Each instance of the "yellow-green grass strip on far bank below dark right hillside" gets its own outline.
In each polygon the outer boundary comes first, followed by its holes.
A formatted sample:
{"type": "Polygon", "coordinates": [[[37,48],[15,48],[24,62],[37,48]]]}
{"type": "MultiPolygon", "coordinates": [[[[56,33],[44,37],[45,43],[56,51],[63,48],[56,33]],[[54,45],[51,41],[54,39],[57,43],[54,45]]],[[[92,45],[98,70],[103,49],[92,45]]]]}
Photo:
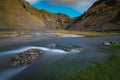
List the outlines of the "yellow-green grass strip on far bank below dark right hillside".
{"type": "Polygon", "coordinates": [[[113,36],[113,35],[120,35],[120,33],[114,32],[84,32],[84,31],[66,31],[66,30],[51,30],[48,33],[64,33],[64,34],[75,34],[75,35],[82,35],[88,37],[97,37],[97,36],[113,36]]]}

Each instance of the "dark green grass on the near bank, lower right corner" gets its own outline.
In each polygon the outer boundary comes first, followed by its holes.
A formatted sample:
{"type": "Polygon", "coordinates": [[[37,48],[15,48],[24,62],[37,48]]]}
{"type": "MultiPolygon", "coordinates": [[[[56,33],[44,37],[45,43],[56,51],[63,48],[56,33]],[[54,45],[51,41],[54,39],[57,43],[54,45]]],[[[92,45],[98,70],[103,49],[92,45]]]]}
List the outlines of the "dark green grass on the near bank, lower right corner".
{"type": "Polygon", "coordinates": [[[110,45],[109,61],[80,70],[59,80],[120,80],[120,44],[110,45]]]}

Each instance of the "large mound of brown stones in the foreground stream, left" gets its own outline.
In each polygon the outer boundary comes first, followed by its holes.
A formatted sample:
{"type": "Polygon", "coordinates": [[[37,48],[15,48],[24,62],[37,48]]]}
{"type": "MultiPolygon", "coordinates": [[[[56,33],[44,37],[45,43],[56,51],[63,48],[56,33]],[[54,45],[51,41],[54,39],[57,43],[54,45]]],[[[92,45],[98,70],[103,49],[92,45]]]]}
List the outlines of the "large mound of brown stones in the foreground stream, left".
{"type": "Polygon", "coordinates": [[[43,52],[39,49],[29,49],[11,58],[13,66],[22,66],[36,61],[43,52]]]}

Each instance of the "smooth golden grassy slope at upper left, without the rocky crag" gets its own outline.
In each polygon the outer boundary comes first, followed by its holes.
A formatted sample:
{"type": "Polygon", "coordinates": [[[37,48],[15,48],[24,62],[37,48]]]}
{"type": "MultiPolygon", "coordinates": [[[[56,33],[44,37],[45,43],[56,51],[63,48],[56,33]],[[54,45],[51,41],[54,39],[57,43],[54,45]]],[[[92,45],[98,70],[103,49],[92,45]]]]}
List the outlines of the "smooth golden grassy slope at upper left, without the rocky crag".
{"type": "Polygon", "coordinates": [[[35,24],[38,27],[45,26],[42,20],[26,11],[23,7],[25,2],[20,3],[20,1],[0,0],[0,28],[34,30],[35,24]]]}

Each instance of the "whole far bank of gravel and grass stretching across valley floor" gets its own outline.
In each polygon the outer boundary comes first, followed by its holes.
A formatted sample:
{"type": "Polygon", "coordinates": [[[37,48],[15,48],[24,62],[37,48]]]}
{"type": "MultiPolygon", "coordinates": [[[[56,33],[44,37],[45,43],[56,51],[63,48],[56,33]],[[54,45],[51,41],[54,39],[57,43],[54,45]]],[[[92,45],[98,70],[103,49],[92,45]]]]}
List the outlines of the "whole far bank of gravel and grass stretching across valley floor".
{"type": "MultiPolygon", "coordinates": [[[[100,36],[116,36],[120,33],[104,33],[104,32],[75,32],[75,31],[64,31],[64,30],[57,30],[57,31],[48,31],[48,32],[27,32],[27,33],[16,33],[16,32],[10,32],[11,34],[6,37],[0,38],[0,47],[7,46],[11,44],[17,44],[17,43],[25,43],[25,42],[31,42],[31,41],[37,41],[37,40],[45,40],[50,38],[62,38],[62,37],[100,37],[100,36]],[[16,36],[17,35],[17,36],[16,36]]],[[[3,35],[2,33],[1,35],[3,35]]],[[[8,34],[8,33],[7,33],[8,34]]]]}

